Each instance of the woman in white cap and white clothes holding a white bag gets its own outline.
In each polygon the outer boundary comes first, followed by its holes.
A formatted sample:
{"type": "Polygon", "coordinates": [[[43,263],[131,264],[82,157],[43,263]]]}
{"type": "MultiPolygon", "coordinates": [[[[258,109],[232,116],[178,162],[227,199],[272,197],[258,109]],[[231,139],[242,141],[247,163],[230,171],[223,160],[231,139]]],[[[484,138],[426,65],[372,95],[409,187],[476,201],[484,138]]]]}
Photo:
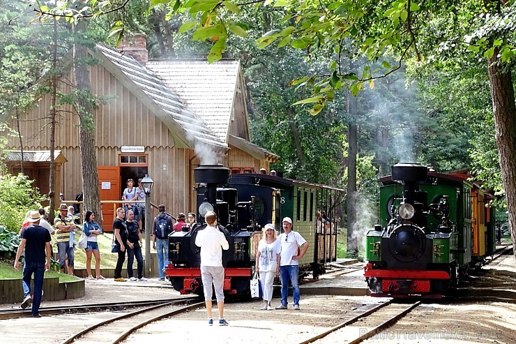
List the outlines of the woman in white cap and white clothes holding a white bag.
{"type": "Polygon", "coordinates": [[[272,223],[264,227],[264,234],[258,244],[256,253],[256,269],[260,271],[261,290],[264,293],[262,311],[271,311],[273,299],[274,276],[280,274],[281,244],[277,240],[278,234],[272,223]]]}

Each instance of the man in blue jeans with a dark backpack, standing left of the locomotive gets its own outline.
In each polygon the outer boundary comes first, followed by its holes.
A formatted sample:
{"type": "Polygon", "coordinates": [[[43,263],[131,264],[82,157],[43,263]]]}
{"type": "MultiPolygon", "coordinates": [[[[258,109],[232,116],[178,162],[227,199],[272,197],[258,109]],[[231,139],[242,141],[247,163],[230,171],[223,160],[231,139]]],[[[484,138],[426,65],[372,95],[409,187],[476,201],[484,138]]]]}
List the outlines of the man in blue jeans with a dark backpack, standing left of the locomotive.
{"type": "Polygon", "coordinates": [[[160,214],[154,218],[152,230],[153,248],[158,252],[160,281],[165,281],[165,267],[169,264],[169,234],[172,232],[172,217],[165,212],[163,204],[158,205],[160,214]]]}

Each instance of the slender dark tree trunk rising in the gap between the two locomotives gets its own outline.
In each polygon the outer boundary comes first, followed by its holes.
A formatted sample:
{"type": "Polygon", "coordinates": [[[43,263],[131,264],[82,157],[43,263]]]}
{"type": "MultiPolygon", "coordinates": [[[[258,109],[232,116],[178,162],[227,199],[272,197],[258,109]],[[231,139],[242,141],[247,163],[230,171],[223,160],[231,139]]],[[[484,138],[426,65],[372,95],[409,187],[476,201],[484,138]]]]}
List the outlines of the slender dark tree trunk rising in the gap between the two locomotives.
{"type": "MultiPolygon", "coordinates": [[[[348,93],[347,112],[352,120],[356,118],[356,97],[348,93]]],[[[347,158],[347,256],[358,256],[358,243],[356,239],[356,202],[358,193],[356,190],[356,155],[358,153],[356,124],[348,124],[348,158],[347,158]]]]}

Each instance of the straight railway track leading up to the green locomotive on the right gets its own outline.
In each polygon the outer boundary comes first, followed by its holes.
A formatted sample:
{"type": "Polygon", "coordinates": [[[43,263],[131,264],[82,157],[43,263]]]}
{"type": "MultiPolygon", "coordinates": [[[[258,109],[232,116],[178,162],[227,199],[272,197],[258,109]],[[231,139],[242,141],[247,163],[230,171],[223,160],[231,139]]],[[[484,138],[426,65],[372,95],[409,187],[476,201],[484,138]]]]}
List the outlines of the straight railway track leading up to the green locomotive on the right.
{"type": "Polygon", "coordinates": [[[420,301],[413,304],[394,304],[393,299],[390,299],[373,308],[370,306],[356,308],[349,320],[299,344],[343,343],[344,338],[347,344],[361,343],[395,324],[419,304],[420,301]]]}

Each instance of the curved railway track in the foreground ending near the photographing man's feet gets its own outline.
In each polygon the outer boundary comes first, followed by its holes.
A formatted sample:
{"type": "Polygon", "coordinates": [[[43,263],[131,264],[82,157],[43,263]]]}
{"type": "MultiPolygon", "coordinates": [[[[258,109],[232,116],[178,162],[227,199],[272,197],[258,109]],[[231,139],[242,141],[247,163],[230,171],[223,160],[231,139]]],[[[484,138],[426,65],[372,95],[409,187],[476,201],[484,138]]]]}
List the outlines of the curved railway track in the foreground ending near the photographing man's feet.
{"type": "Polygon", "coordinates": [[[68,337],[61,344],[69,343],[121,343],[138,329],[155,322],[162,320],[165,317],[181,314],[195,308],[204,306],[203,302],[196,302],[186,306],[179,306],[184,302],[192,301],[192,298],[169,301],[164,304],[150,306],[130,313],[112,317],[93,324],[72,336],[68,337]]]}

